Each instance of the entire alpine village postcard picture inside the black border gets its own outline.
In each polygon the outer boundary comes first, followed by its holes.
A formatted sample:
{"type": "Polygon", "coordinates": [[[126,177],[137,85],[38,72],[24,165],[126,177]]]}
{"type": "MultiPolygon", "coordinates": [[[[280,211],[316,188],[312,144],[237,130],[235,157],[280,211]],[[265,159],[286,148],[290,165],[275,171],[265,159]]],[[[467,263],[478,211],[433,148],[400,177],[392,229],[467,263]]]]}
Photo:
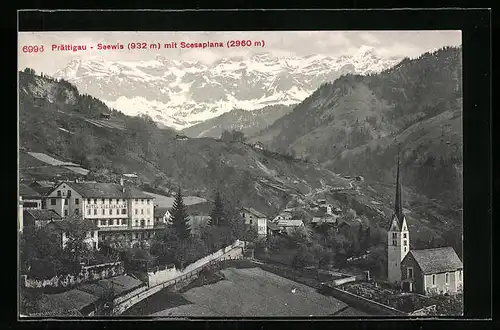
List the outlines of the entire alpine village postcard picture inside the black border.
{"type": "Polygon", "coordinates": [[[464,314],[460,30],[18,32],[19,316],[464,314]]]}

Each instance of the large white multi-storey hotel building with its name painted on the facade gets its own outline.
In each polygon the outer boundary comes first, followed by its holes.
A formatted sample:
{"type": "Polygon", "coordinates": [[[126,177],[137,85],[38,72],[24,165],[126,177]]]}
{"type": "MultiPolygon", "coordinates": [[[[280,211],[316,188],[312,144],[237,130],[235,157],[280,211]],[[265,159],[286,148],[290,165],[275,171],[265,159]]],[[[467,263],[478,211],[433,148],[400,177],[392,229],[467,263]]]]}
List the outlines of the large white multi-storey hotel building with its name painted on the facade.
{"type": "Polygon", "coordinates": [[[154,197],[123,184],[98,182],[62,182],[47,196],[47,208],[66,217],[82,215],[94,223],[99,239],[111,236],[135,242],[150,239],[154,227],[154,197]]]}

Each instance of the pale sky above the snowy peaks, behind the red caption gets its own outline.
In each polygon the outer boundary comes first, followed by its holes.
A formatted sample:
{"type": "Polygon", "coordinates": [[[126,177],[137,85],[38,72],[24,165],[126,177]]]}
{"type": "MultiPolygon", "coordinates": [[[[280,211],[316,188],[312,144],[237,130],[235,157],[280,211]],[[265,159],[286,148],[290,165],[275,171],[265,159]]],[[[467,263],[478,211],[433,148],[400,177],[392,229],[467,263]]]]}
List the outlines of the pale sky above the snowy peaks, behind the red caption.
{"type": "Polygon", "coordinates": [[[224,57],[251,56],[270,52],[276,56],[351,55],[363,46],[373,47],[381,57],[417,57],[443,46],[462,43],[461,31],[239,31],[239,32],[20,32],[18,67],[53,74],[75,57],[102,57],[105,60],[146,61],[161,55],[176,60],[197,60],[210,64],[224,57]],[[130,42],[169,43],[264,40],[264,47],[205,49],[128,50],[130,42]],[[123,50],[97,50],[97,44],[124,45],[123,50]],[[52,45],[86,45],[87,51],[52,51],[52,45]],[[24,53],[23,46],[44,47],[42,53],[24,53]],[[93,46],[94,49],[90,50],[93,46]]]}

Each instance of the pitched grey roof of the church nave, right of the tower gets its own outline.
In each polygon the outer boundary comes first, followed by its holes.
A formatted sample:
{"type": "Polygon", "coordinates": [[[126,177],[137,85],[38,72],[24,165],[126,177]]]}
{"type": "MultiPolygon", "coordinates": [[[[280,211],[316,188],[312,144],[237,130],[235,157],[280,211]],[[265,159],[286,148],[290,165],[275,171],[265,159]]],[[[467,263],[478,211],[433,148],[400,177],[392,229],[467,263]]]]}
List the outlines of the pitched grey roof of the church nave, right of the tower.
{"type": "Polygon", "coordinates": [[[413,256],[424,274],[443,273],[463,268],[462,261],[450,246],[410,250],[409,254],[413,256]]]}

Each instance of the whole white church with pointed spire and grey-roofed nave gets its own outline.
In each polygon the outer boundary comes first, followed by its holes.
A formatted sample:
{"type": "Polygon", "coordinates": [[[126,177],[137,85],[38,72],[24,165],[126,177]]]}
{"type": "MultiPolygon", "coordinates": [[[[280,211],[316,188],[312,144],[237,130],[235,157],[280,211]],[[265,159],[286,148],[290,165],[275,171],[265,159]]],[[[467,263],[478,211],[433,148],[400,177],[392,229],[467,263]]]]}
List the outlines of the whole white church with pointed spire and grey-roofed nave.
{"type": "Polygon", "coordinates": [[[462,261],[452,247],[423,250],[410,248],[410,231],[403,213],[400,165],[396,174],[394,215],[387,232],[387,279],[404,291],[420,294],[461,292],[462,261]]]}

